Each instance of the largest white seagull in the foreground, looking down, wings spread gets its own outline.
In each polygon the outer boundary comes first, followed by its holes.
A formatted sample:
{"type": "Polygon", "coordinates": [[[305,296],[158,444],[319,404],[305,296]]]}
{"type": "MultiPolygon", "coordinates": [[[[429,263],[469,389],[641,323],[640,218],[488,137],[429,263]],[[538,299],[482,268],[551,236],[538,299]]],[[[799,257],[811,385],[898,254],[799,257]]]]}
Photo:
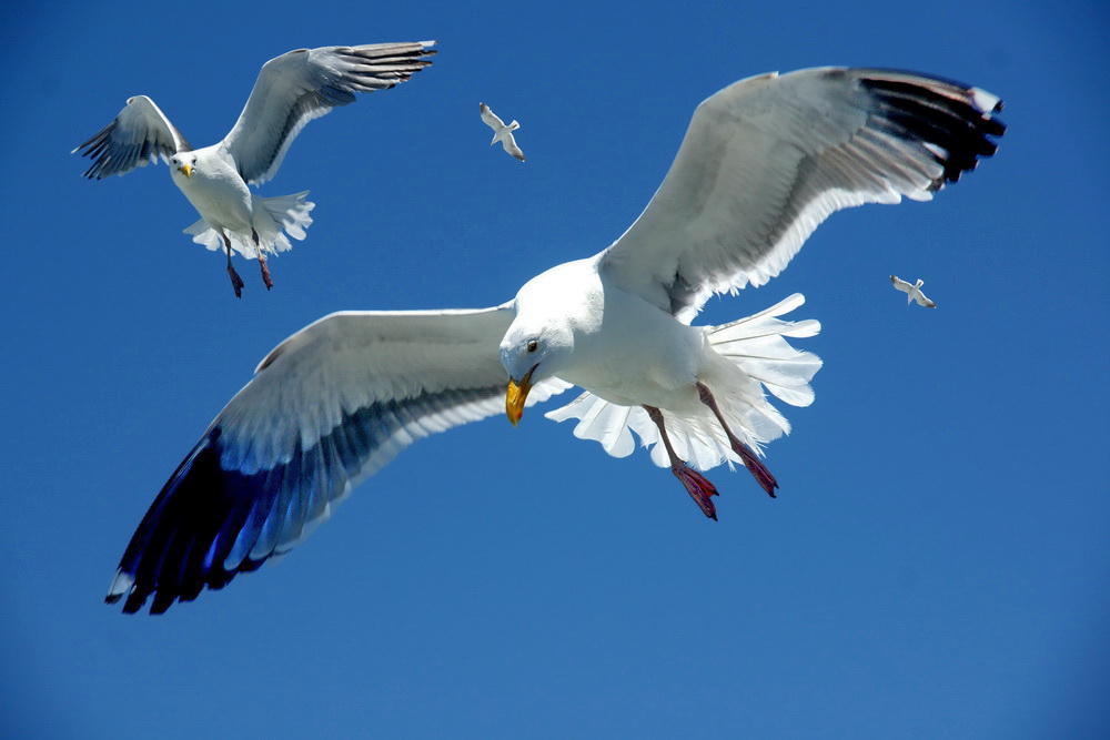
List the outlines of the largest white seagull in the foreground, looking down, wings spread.
{"type": "MultiPolygon", "coordinates": [[[[834,211],[927,201],[993,154],[995,95],[928,77],[821,68],[764,74],[703,102],[647,207],[608,249],[528,281],[492,308],[343,312],[281,343],[215,417],[131,538],[108,592],[151,612],[287,551],[414,440],[524,408],[614,456],[653,447],[716,518],[700,470],[745,465],[789,429],[765,395],[805,406],[820,366],[780,318],[800,295],[692,326],[714,293],[777,275],[834,211]],[[506,389],[507,381],[507,389],[506,389]],[[695,469],[697,468],[697,469],[695,469]]],[[[965,230],[958,230],[963,233],[965,230]]]]}

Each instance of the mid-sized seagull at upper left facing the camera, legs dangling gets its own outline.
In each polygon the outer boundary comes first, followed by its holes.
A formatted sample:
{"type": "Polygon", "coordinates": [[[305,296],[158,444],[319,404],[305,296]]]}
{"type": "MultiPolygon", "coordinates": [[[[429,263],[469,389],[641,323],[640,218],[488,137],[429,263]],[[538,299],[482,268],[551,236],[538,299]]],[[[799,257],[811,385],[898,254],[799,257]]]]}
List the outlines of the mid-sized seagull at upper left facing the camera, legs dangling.
{"type": "Polygon", "coordinates": [[[231,264],[232,250],[258,259],[262,281],[273,286],[265,254],[291,249],[285,234],[304,239],[314,203],[309,191],[261,197],[261,185],[278,173],[285,152],[312,119],[353,103],[356,92],[389,90],[428,64],[435,41],[297,49],[262,65],[243,112],[223,141],[193,149],[147,95],[128,99],[115,120],[73,150],[93,159],[90,180],[123,175],[137,166],[168,162],[174,184],[201,220],[186,234],[209,250],[228,253],[235,296],[243,281],[231,264]],[[283,233],[284,232],[284,233],[283,233]]]}

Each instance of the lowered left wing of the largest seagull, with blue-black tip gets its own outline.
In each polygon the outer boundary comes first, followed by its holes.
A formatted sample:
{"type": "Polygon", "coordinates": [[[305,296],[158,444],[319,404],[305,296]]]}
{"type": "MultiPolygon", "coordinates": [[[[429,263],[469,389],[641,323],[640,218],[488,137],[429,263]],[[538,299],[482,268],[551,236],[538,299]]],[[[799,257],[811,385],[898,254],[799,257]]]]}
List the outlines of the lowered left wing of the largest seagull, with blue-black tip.
{"type": "Polygon", "coordinates": [[[134,612],[153,595],[160,614],[222,588],[296,545],[414,440],[504,413],[498,344],[512,318],[508,307],[345,312],[291,336],[154,499],[107,601],[134,612]]]}

